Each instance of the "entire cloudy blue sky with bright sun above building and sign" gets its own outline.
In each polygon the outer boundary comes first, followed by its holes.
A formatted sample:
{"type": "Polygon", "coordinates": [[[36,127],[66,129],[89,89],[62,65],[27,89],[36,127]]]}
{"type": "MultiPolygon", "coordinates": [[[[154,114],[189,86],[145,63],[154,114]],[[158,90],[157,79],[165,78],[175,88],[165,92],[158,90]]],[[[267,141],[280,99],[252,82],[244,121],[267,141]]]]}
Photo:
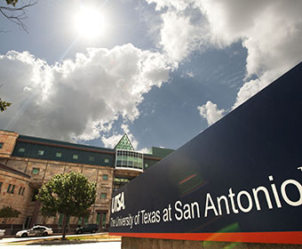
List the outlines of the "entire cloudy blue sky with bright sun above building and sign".
{"type": "Polygon", "coordinates": [[[302,60],[301,12],[300,0],[37,0],[28,33],[0,16],[12,102],[0,129],[178,149],[302,60]]]}

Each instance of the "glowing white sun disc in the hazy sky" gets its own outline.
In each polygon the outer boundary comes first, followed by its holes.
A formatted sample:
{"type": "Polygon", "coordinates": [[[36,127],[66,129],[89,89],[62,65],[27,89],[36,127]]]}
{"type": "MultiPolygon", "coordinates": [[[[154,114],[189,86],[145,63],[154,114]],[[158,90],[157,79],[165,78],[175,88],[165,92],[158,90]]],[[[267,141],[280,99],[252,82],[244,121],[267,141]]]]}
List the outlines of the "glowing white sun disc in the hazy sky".
{"type": "Polygon", "coordinates": [[[87,39],[94,39],[105,32],[104,15],[97,9],[82,6],[75,15],[74,21],[76,33],[87,39]]]}

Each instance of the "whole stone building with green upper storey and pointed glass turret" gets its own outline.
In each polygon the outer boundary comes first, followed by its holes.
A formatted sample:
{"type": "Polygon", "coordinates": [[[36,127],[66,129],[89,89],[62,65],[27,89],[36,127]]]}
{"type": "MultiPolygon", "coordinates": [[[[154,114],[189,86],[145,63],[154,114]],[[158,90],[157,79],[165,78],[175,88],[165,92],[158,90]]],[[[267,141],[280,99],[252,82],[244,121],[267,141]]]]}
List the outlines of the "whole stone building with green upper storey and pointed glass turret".
{"type": "Polygon", "coordinates": [[[113,191],[172,151],[152,148],[150,154],[142,154],[134,150],[126,134],[114,149],[105,149],[0,131],[0,208],[10,205],[20,211],[18,218],[2,224],[2,228],[13,233],[13,229],[44,224],[59,231],[63,215],[42,216],[36,194],[54,174],[77,172],[97,182],[97,198],[89,217],[70,218],[70,229],[84,223],[107,229],[113,191]]]}

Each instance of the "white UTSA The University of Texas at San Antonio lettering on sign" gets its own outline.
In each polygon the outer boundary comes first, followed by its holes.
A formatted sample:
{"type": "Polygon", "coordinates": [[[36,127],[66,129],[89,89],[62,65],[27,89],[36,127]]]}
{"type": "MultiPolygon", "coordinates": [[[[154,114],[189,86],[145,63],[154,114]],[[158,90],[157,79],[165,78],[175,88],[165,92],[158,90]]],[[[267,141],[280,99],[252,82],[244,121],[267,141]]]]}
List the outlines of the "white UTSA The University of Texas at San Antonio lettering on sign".
{"type": "MultiPolygon", "coordinates": [[[[213,216],[250,213],[253,211],[282,209],[284,205],[297,207],[302,205],[302,184],[294,179],[287,179],[280,184],[274,183],[273,175],[268,175],[268,182],[250,189],[225,189],[224,195],[204,193],[200,201],[176,200],[162,209],[138,209],[134,213],[117,214],[110,219],[110,226],[129,227],[147,226],[161,222],[190,221],[213,216]],[[202,217],[203,216],[203,217],[202,217]]],[[[112,199],[111,213],[125,210],[124,193],[112,199]]],[[[129,205],[128,205],[129,208],[129,205]]],[[[125,210],[126,211],[126,210],[125,210]]],[[[212,219],[212,218],[211,218],[212,219]]]]}

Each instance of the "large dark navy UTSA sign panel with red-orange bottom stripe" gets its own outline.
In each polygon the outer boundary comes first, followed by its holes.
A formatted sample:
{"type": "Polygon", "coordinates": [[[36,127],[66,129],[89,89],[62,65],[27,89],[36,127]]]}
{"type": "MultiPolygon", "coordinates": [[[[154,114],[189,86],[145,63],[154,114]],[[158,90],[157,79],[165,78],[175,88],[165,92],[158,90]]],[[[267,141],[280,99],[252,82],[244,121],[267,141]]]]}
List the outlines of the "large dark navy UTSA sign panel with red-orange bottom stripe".
{"type": "Polygon", "coordinates": [[[302,245],[302,63],[113,194],[110,234],[302,245]]]}

